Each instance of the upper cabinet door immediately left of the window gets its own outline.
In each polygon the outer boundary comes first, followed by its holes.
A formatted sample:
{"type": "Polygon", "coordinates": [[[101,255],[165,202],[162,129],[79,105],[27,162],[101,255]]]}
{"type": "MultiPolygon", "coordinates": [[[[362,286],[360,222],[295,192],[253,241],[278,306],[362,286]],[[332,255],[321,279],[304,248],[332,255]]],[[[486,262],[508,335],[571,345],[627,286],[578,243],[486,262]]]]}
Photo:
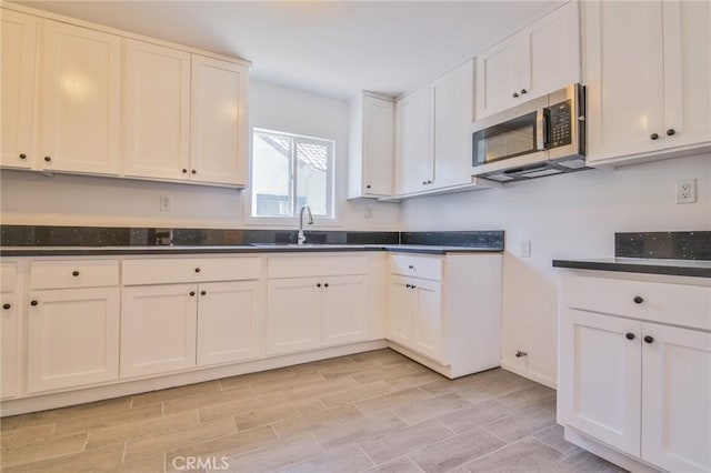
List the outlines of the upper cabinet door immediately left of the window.
{"type": "Polygon", "coordinates": [[[248,68],[192,56],[190,179],[247,184],[248,68]]]}

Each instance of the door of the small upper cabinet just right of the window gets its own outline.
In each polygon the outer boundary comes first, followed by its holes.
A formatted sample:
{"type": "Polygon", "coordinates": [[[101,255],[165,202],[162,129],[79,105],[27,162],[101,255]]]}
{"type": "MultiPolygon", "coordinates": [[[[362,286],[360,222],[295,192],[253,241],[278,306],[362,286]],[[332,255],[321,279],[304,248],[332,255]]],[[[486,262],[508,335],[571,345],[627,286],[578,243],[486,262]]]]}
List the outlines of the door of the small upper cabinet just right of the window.
{"type": "Polygon", "coordinates": [[[363,194],[392,195],[394,104],[363,98],[363,194]]]}

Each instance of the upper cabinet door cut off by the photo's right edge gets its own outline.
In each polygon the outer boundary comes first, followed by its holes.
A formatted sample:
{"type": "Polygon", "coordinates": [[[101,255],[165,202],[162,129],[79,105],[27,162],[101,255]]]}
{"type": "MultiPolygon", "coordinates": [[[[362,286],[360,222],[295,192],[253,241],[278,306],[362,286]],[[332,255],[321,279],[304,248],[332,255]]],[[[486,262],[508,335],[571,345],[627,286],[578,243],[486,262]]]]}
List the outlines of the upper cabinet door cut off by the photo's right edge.
{"type": "Polygon", "coordinates": [[[711,3],[662,2],[664,24],[664,142],[668,148],[711,141],[711,3]],[[668,130],[673,130],[668,135],[668,130]]]}

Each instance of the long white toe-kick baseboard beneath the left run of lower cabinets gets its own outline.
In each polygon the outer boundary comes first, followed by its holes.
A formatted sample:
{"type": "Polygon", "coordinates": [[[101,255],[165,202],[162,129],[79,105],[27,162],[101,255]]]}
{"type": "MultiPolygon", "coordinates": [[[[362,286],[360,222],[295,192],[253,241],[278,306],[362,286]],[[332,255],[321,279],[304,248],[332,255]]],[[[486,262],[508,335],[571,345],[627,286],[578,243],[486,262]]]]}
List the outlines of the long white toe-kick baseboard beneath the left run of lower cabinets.
{"type": "Polygon", "coordinates": [[[346,356],[354,353],[368,352],[388,348],[385,340],[353,343],[342,346],[313,350],[302,353],[260,359],[243,363],[194,370],[169,375],[141,379],[134,381],[118,380],[112,384],[73,389],[71,391],[37,394],[21,399],[4,400],[0,403],[0,416],[24,414],[28,412],[44,411],[48,409],[64,407],[68,405],[83,404],[112,397],[121,397],[150,391],[164,390],[186,384],[201,383],[219,380],[221,378],[237,376],[239,374],[254,373],[258,371],[274,370],[294,364],[310,363],[336,356],[346,356]]]}

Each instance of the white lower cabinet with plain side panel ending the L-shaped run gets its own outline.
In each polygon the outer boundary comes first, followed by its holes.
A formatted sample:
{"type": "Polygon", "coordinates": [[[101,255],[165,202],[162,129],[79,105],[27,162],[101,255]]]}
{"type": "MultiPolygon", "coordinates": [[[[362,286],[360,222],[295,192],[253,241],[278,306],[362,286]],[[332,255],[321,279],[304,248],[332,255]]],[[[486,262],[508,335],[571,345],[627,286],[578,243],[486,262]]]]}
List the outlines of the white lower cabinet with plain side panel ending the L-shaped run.
{"type": "Polygon", "coordinates": [[[499,366],[501,271],[501,254],[391,254],[391,348],[448,378],[499,366]]]}

